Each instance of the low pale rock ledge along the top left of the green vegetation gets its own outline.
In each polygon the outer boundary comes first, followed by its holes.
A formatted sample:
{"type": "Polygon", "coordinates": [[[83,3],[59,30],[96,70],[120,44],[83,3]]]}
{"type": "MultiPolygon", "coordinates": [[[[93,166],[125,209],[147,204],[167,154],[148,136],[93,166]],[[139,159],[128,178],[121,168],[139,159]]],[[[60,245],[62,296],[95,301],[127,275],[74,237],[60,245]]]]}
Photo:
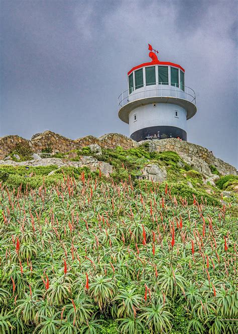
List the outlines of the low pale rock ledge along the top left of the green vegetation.
{"type": "MultiPolygon", "coordinates": [[[[92,157],[82,156],[80,161],[66,161],[59,158],[43,158],[38,160],[16,162],[12,160],[4,161],[0,160],[0,165],[11,166],[71,166],[71,167],[88,167],[91,171],[95,172],[97,169],[101,170],[101,173],[108,177],[112,173],[113,167],[107,162],[98,161],[92,157]]],[[[54,172],[54,171],[53,171],[54,172]]]]}

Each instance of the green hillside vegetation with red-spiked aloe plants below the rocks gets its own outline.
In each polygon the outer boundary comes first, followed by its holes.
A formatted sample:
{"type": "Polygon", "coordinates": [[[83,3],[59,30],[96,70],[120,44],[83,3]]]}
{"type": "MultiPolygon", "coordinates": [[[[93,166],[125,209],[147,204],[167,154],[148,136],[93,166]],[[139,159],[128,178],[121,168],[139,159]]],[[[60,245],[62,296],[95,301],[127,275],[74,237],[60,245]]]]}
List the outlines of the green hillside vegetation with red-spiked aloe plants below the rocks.
{"type": "Polygon", "coordinates": [[[176,153],[146,146],[97,159],[110,178],[0,167],[0,332],[237,332],[236,198],[220,195],[237,177],[204,185],[176,153]],[[167,180],[137,179],[148,163],[167,180]]]}

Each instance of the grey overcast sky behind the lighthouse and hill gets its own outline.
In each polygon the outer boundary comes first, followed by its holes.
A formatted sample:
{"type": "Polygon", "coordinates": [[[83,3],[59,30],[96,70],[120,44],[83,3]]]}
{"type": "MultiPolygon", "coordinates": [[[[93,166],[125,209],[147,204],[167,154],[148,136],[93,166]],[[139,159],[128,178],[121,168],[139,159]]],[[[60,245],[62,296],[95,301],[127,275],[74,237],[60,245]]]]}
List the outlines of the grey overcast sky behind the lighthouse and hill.
{"type": "Polygon", "coordinates": [[[188,141],[237,166],[237,1],[1,0],[0,136],[128,135],[127,72],[159,59],[197,96],[188,141]]]}

